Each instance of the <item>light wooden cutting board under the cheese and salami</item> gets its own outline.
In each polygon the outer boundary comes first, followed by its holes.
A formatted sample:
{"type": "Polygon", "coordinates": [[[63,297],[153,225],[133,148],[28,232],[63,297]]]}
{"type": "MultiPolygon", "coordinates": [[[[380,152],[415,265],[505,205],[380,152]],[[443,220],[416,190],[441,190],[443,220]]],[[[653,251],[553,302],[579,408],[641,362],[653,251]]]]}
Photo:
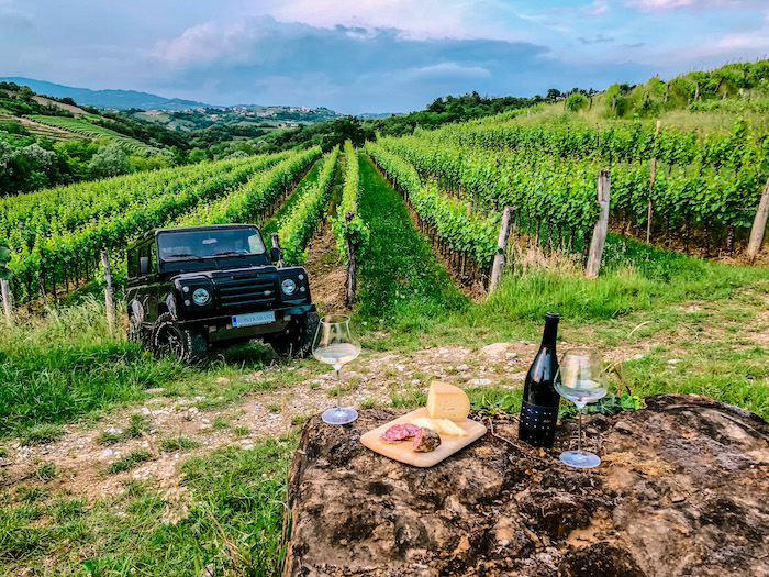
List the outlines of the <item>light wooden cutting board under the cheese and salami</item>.
{"type": "Polygon", "coordinates": [[[441,445],[438,448],[431,451],[430,453],[416,453],[415,451],[412,451],[411,440],[401,441],[400,443],[384,443],[383,441],[379,440],[379,436],[393,424],[405,423],[406,421],[419,417],[430,417],[426,407],[422,407],[421,409],[416,409],[415,411],[404,414],[403,417],[399,417],[393,421],[384,423],[381,426],[377,426],[376,429],[364,434],[360,437],[360,442],[364,444],[364,446],[370,448],[371,451],[376,451],[386,457],[400,461],[406,465],[413,465],[414,467],[432,467],[486,434],[486,425],[483,425],[483,423],[465,419],[464,422],[457,424],[467,432],[467,435],[457,436],[442,434],[441,445]]]}

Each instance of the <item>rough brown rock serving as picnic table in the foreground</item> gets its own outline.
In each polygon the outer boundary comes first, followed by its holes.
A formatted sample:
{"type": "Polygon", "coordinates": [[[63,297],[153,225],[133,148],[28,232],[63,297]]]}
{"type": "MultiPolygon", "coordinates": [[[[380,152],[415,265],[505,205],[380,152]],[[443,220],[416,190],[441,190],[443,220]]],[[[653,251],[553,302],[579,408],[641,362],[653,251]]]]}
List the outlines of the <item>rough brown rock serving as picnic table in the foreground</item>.
{"type": "Polygon", "coordinates": [[[769,424],[753,413],[658,395],[595,415],[592,470],[558,461],[575,424],[535,450],[510,415],[435,467],[402,465],[358,441],[397,414],[307,423],[285,576],[769,576],[769,424]]]}

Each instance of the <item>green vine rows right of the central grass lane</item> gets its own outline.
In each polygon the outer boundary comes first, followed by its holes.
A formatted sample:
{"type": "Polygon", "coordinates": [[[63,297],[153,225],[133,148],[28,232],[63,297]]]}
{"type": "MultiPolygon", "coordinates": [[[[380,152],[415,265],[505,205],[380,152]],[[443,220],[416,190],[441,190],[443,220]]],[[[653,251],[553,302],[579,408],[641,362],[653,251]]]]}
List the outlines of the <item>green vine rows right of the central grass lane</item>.
{"type": "Polygon", "coordinates": [[[481,266],[495,252],[494,219],[503,206],[512,208],[517,233],[536,246],[587,258],[601,168],[611,170],[617,230],[684,252],[734,254],[756,218],[769,137],[751,135],[742,120],[728,136],[701,141],[657,129],[530,129],[508,121],[380,138],[368,151],[441,242],[481,266]]]}

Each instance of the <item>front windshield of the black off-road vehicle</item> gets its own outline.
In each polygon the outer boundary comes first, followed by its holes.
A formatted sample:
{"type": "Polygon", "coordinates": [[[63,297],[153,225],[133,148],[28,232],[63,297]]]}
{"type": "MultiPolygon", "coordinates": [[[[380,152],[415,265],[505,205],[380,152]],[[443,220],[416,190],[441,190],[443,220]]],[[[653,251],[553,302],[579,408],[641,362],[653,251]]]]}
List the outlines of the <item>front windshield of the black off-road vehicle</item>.
{"type": "Polygon", "coordinates": [[[163,233],[157,236],[157,247],[163,260],[237,257],[265,253],[265,243],[256,229],[163,233]]]}

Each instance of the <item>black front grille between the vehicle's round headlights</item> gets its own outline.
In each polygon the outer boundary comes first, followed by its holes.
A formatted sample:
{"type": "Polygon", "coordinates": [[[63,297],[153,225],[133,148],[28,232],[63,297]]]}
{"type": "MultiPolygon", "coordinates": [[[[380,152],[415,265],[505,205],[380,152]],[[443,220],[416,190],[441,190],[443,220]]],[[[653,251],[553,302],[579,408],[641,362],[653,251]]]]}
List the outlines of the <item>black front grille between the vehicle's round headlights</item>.
{"type": "Polygon", "coordinates": [[[279,302],[278,275],[269,273],[218,273],[212,276],[219,306],[258,311],[279,302]]]}

